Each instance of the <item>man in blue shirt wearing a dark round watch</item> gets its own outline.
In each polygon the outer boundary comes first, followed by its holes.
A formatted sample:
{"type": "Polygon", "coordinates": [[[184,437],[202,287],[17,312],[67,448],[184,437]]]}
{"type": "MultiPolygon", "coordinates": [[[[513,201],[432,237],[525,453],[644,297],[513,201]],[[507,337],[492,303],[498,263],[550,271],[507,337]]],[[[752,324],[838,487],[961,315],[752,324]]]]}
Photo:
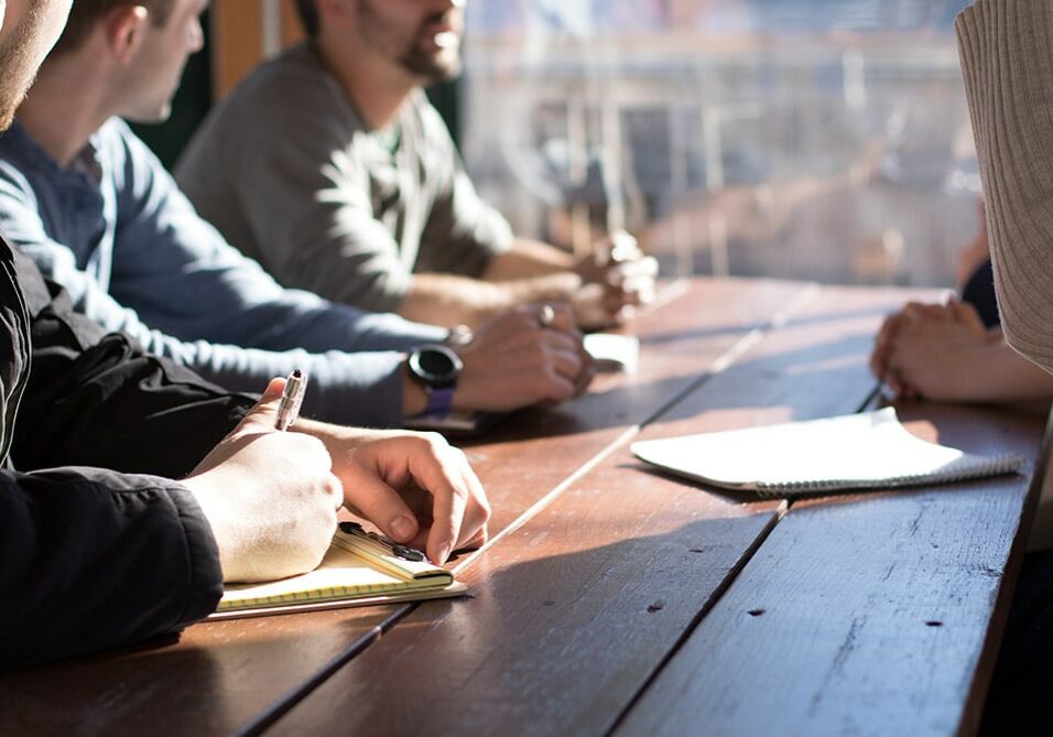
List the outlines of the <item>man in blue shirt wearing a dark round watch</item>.
{"type": "Polygon", "coordinates": [[[160,120],[189,53],[202,0],[90,0],[0,138],[0,227],[62,283],[74,306],[227,389],[259,391],[303,368],[305,410],[399,426],[445,405],[503,411],[573,397],[590,368],[569,311],[497,317],[458,345],[426,349],[455,387],[433,391],[409,354],[447,330],[286,290],[193,210],[113,116],[160,120]],[[456,355],[454,355],[456,354],[456,355]],[[457,372],[457,364],[463,368],[457,372]]]}

